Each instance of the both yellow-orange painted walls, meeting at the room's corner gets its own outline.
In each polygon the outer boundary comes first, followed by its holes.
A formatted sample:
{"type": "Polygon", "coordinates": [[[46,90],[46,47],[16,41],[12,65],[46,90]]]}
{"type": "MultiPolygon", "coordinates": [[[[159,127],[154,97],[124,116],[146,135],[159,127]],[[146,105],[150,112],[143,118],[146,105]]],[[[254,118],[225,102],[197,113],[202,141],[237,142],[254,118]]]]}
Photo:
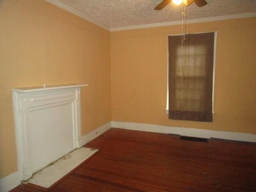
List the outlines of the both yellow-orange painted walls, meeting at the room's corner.
{"type": "Polygon", "coordinates": [[[14,87],[88,83],[81,92],[83,135],[111,117],[256,134],[256,18],[186,26],[190,33],[218,31],[212,123],[169,120],[165,112],[167,36],[181,26],[110,37],[43,0],[2,0],[0,29],[0,178],[17,170],[14,87]]]}

